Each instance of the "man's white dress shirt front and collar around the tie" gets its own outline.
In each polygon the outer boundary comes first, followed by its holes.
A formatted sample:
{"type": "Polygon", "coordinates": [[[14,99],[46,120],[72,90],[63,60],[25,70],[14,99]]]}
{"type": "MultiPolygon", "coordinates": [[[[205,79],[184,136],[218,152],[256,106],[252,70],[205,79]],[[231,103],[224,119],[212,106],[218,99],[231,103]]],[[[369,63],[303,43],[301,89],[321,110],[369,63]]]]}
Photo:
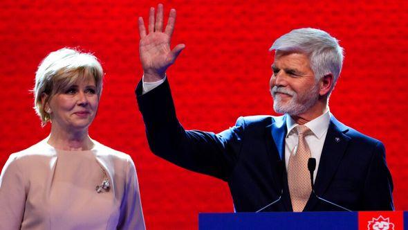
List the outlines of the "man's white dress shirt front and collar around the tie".
{"type": "MultiPolygon", "coordinates": [[[[313,174],[313,182],[316,179],[317,170],[319,169],[320,156],[322,155],[324,140],[326,140],[326,134],[328,130],[328,124],[330,123],[330,112],[327,109],[324,114],[319,117],[309,121],[304,124],[308,127],[313,134],[305,136],[306,143],[310,148],[311,157],[316,159],[316,169],[313,174]]],[[[294,127],[297,126],[297,123],[289,115],[286,116],[286,128],[288,129],[288,134],[285,138],[285,163],[286,163],[286,172],[289,165],[290,154],[296,154],[298,136],[295,132],[294,127]]]]}

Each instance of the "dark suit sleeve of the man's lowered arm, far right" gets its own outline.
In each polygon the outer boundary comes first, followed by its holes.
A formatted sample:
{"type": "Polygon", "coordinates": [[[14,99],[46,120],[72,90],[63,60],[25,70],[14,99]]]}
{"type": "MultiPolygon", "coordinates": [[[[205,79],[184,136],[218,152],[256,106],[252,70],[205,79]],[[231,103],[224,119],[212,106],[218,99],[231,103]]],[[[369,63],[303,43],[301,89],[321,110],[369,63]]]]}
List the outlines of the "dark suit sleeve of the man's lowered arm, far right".
{"type": "Polygon", "coordinates": [[[378,141],[364,183],[364,209],[394,210],[392,191],[393,182],[385,161],[384,145],[378,141]]]}

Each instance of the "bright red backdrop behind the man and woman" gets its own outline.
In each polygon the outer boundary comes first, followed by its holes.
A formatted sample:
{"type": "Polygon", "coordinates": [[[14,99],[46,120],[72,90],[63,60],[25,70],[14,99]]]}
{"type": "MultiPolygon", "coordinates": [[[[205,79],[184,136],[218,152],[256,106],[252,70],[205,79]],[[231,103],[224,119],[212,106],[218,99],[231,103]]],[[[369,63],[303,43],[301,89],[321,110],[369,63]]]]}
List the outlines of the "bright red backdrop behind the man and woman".
{"type": "MultiPolygon", "coordinates": [[[[176,8],[174,45],[185,51],[168,71],[180,121],[220,132],[237,117],[274,114],[268,48],[293,28],[328,31],[345,48],[331,112],[387,148],[396,209],[408,209],[405,132],[408,1],[164,1],[176,8]]],[[[149,151],[133,89],[142,76],[137,17],[156,1],[0,2],[0,167],[44,139],[33,107],[37,65],[64,46],[91,51],[106,78],[93,139],[131,154],[149,229],[193,229],[199,212],[230,212],[227,184],[149,151]]]]}

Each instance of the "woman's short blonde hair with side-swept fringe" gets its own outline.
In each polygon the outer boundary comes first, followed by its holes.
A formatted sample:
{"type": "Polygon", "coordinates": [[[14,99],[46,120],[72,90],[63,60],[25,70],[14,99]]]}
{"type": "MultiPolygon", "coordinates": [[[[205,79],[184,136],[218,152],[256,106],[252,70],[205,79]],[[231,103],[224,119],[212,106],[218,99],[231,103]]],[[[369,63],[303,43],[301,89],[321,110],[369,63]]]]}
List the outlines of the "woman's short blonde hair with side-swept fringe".
{"type": "Polygon", "coordinates": [[[50,121],[50,114],[44,110],[44,105],[55,94],[71,87],[77,80],[93,78],[100,98],[103,76],[100,62],[91,53],[82,53],[73,48],[61,48],[49,53],[39,64],[33,89],[34,109],[41,119],[41,125],[50,121]],[[48,96],[42,101],[44,94],[48,96]]]}

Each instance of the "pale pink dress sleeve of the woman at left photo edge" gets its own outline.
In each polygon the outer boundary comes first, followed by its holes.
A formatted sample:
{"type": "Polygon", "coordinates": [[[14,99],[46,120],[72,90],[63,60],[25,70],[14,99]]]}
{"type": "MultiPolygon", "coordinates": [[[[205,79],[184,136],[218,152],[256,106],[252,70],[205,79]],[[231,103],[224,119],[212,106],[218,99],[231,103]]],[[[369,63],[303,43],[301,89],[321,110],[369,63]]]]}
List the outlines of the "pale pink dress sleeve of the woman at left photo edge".
{"type": "Polygon", "coordinates": [[[20,229],[25,206],[24,175],[11,155],[0,175],[0,229],[20,229]]]}

